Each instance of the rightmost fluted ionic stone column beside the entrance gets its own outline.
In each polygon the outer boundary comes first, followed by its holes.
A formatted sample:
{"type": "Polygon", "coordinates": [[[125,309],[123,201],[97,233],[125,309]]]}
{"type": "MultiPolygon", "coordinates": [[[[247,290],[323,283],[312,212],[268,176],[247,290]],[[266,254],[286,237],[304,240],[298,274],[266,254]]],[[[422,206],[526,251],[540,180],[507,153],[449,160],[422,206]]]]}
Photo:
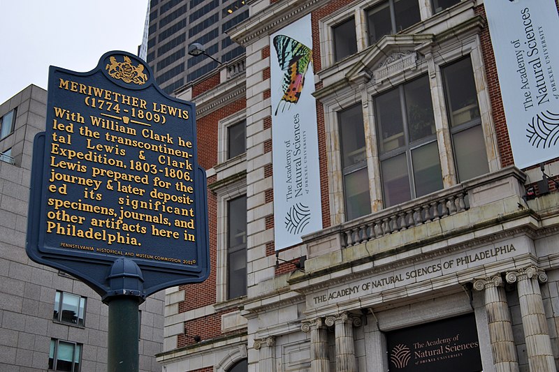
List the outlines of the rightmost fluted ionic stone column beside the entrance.
{"type": "Polygon", "coordinates": [[[555,372],[544,302],[539,290],[539,283],[547,281],[546,274],[543,270],[530,266],[508,272],[506,279],[508,283],[517,283],[530,371],[555,372]]]}

